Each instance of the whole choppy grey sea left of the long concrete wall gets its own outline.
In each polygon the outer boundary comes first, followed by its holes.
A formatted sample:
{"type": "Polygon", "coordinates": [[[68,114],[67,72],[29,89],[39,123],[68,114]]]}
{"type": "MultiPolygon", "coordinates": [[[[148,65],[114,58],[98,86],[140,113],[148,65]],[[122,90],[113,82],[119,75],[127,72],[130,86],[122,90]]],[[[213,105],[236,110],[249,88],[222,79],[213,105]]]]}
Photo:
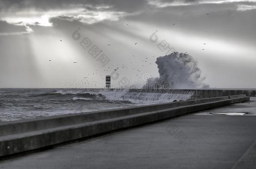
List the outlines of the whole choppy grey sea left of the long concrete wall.
{"type": "Polygon", "coordinates": [[[192,94],[193,92],[189,91],[172,94],[76,88],[2,88],[0,89],[0,121],[187,100],[192,94]]]}

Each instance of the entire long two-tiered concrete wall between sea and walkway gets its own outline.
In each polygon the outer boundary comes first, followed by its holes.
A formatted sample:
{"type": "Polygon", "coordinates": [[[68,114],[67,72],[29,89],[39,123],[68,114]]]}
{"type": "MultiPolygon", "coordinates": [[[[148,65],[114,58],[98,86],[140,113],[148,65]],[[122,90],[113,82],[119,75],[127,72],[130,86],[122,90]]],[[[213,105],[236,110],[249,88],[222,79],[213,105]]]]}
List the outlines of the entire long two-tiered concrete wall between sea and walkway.
{"type": "Polygon", "coordinates": [[[0,156],[248,100],[224,96],[0,123],[0,156]]]}

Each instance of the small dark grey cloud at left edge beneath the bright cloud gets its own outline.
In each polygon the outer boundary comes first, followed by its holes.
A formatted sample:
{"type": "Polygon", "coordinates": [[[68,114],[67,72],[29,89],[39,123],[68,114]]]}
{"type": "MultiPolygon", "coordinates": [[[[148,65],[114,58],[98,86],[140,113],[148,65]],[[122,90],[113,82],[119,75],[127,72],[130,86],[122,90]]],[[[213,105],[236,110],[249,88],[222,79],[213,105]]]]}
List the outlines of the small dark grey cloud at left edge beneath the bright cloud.
{"type": "Polygon", "coordinates": [[[0,20],[0,34],[24,33],[27,32],[24,25],[13,25],[5,20],[0,20]]]}

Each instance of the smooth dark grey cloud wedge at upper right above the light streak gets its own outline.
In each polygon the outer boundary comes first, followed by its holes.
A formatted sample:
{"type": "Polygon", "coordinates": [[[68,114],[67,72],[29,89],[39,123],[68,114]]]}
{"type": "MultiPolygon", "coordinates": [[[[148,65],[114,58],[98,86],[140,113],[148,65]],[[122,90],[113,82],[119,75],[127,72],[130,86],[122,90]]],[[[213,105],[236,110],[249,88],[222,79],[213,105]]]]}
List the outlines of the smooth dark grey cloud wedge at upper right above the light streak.
{"type": "Polygon", "coordinates": [[[129,16],[137,22],[154,23],[158,30],[165,28],[249,45],[256,43],[256,20],[253,18],[256,18],[256,10],[238,11],[237,3],[169,6],[129,16]]]}

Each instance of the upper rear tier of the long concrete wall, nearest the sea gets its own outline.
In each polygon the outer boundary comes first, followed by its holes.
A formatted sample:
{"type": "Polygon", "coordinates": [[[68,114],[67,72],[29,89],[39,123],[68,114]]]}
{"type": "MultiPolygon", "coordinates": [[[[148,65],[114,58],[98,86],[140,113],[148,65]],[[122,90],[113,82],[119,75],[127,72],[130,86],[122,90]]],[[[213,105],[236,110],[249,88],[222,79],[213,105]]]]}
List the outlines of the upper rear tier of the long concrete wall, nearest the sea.
{"type": "MultiPolygon", "coordinates": [[[[240,96],[239,96],[240,97],[240,96]]],[[[111,119],[120,116],[128,116],[132,114],[139,114],[149,111],[158,111],[161,109],[172,108],[177,106],[187,106],[198,103],[207,103],[211,101],[220,101],[228,99],[229,96],[219,97],[219,98],[207,98],[202,100],[190,100],[190,101],[179,101],[172,103],[161,103],[161,104],[151,104],[146,106],[134,106],[130,108],[116,108],[112,110],[105,111],[92,111],[87,113],[79,114],[68,114],[52,117],[44,117],[37,119],[27,119],[19,121],[10,121],[0,123],[0,136],[5,136],[9,134],[19,134],[28,131],[48,129],[52,127],[72,125],[78,123],[86,123],[90,121],[97,121],[102,119],[111,119]]]]}

